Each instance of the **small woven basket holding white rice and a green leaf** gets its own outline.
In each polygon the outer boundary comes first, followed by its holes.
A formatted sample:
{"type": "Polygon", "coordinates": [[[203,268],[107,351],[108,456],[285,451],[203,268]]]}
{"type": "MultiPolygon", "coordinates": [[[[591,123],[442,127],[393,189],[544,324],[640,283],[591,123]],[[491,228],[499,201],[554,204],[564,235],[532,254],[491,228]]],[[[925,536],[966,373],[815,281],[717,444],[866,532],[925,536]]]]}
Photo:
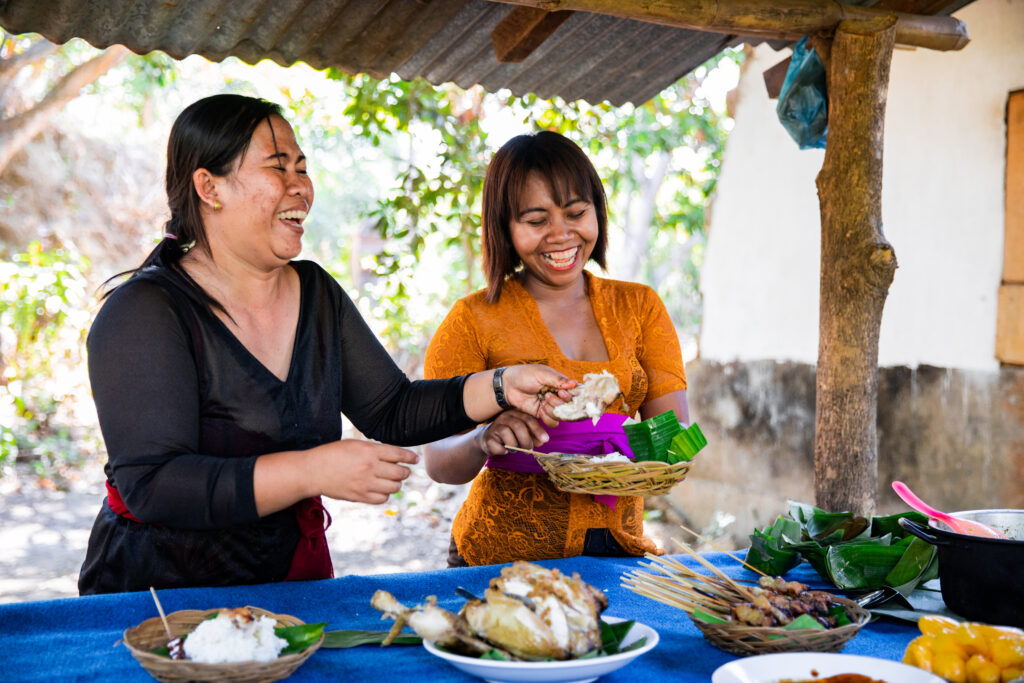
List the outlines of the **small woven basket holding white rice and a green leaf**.
{"type": "Polygon", "coordinates": [[[324,625],[259,607],[183,609],[167,615],[167,629],[170,643],[159,616],[124,633],[132,656],[159,681],[280,681],[324,642],[324,625]]]}

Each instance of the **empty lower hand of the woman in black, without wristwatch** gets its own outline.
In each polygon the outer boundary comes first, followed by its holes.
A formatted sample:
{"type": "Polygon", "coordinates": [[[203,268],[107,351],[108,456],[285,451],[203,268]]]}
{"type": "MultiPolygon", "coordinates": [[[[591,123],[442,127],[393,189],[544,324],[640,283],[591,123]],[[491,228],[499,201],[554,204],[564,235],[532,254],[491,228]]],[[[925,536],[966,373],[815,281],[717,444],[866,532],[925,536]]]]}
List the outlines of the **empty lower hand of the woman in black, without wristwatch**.
{"type": "Polygon", "coordinates": [[[321,495],[340,501],[386,503],[397,493],[420,458],[408,449],[360,439],[342,439],[318,445],[312,456],[311,476],[321,495]]]}

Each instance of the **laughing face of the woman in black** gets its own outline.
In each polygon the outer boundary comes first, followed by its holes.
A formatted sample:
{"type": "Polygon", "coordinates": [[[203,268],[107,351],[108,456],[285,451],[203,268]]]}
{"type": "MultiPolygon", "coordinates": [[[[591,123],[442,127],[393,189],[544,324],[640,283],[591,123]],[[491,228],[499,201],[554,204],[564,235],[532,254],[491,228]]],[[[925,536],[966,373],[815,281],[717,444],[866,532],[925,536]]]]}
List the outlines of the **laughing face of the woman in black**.
{"type": "Polygon", "coordinates": [[[207,220],[211,247],[259,267],[279,267],[299,255],[313,185],[284,119],[261,123],[234,170],[215,184],[222,208],[207,220]]]}

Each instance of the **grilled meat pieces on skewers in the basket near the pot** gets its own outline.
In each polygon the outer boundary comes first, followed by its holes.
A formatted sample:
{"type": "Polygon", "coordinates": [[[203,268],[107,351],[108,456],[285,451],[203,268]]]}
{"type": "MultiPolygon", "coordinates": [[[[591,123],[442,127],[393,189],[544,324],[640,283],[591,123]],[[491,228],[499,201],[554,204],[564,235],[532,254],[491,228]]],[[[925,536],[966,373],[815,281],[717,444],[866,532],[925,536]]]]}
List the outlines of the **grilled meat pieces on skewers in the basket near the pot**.
{"type": "MultiPolygon", "coordinates": [[[[729,605],[732,620],[749,626],[785,626],[802,614],[809,614],[821,626],[839,626],[837,615],[846,614],[826,591],[812,591],[806,584],[779,578],[762,577],[758,587],[752,587],[753,600],[729,605]]],[[[847,620],[849,622],[849,620],[847,620]]]]}

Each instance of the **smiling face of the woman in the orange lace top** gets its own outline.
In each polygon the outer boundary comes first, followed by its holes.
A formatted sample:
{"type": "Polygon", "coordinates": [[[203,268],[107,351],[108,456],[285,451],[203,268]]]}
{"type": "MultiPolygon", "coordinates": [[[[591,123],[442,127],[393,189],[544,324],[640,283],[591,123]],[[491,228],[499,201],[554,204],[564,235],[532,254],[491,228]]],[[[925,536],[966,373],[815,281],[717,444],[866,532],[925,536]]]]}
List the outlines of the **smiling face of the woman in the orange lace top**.
{"type": "Polygon", "coordinates": [[[543,175],[531,171],[526,176],[509,231],[527,289],[563,289],[582,282],[598,239],[597,214],[575,189],[567,190],[559,202],[543,175]]]}

